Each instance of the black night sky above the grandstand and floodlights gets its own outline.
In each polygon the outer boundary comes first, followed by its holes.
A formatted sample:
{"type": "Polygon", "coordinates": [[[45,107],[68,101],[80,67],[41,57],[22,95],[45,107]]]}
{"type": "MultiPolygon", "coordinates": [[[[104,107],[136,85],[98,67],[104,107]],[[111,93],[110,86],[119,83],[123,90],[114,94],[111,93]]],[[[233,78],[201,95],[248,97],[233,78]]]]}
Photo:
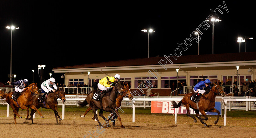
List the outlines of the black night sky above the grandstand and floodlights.
{"type": "MultiPolygon", "coordinates": [[[[150,57],[173,54],[190,33],[212,12],[219,8],[221,22],[214,27],[214,53],[239,52],[239,36],[255,37],[255,7],[253,1],[225,1],[228,13],[219,5],[223,1],[161,2],[120,1],[0,1],[0,82],[9,81],[11,30],[6,26],[20,27],[12,31],[12,74],[16,80],[39,83],[37,65],[46,65],[44,77],[54,67],[108,62],[148,56],[148,33],[141,29],[152,28],[150,57]]],[[[212,25],[202,31],[199,54],[212,54],[212,25]]],[[[197,55],[197,43],[184,55],[197,55]]],[[[245,43],[241,43],[241,52],[245,43]]],[[[255,40],[247,41],[247,52],[256,51],[255,40]]],[[[61,73],[53,77],[59,82],[61,73]]],[[[14,78],[12,79],[14,80],[14,78]]],[[[63,81],[64,82],[64,81],[63,81]]],[[[62,83],[63,83],[62,82],[62,83]]]]}

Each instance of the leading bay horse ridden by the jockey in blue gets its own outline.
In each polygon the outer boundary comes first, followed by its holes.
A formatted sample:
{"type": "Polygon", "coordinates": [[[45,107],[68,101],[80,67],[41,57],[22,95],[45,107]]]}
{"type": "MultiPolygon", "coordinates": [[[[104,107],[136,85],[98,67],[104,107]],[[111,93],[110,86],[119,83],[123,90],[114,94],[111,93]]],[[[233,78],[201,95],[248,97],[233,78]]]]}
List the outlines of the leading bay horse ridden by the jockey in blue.
{"type": "Polygon", "coordinates": [[[190,97],[193,95],[194,93],[188,93],[186,94],[183,99],[177,104],[175,101],[171,101],[172,105],[174,108],[178,108],[181,106],[181,104],[183,104],[186,109],[187,109],[187,116],[190,116],[191,118],[194,119],[194,122],[196,123],[197,120],[194,116],[190,115],[189,112],[189,107],[192,108],[195,113],[196,113],[196,117],[197,119],[204,125],[207,126],[206,123],[204,123],[203,120],[208,120],[208,117],[206,116],[205,112],[214,112],[214,113],[218,113],[218,117],[217,120],[214,121],[214,124],[216,125],[219,121],[219,110],[215,109],[215,97],[216,95],[220,95],[222,97],[225,96],[225,93],[223,92],[221,86],[219,86],[218,84],[214,83],[214,86],[212,86],[212,89],[210,91],[206,91],[200,101],[198,102],[198,107],[199,110],[197,109],[197,104],[194,103],[193,101],[190,100],[190,97]],[[199,116],[199,112],[204,116],[204,118],[201,118],[201,116],[199,116]]]}

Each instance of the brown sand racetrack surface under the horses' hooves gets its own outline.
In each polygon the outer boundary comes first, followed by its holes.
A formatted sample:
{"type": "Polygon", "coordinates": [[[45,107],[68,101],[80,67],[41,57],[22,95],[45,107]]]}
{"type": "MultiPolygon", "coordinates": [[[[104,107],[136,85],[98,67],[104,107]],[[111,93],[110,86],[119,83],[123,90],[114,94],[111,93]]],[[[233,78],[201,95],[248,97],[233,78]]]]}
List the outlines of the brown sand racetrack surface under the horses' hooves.
{"type": "MultiPolygon", "coordinates": [[[[0,110],[1,116],[6,116],[5,110],[0,110]]],[[[232,118],[227,117],[227,126],[223,126],[223,117],[220,118],[217,125],[214,125],[216,117],[209,117],[205,123],[208,127],[204,127],[198,120],[197,123],[187,116],[178,116],[178,123],[174,124],[174,116],[159,116],[159,115],[140,115],[136,114],[135,123],[132,122],[131,114],[120,114],[122,123],[125,129],[120,127],[119,121],[116,121],[116,126],[104,127],[104,132],[98,134],[96,128],[98,123],[91,119],[93,114],[89,112],[85,118],[79,115],[84,112],[67,112],[65,119],[62,123],[56,125],[55,116],[52,111],[43,111],[44,118],[36,113],[34,124],[30,120],[25,120],[25,110],[21,110],[19,114],[23,118],[17,118],[17,124],[14,124],[12,110],[10,110],[11,117],[0,117],[1,137],[2,138],[83,138],[90,131],[94,131],[94,136],[90,137],[170,137],[170,138],[183,138],[183,137],[256,137],[256,118],[232,118]]],[[[109,113],[104,112],[104,116],[109,113]]],[[[59,112],[62,117],[62,112],[59,112]]],[[[105,121],[99,117],[100,122],[105,121]]],[[[102,130],[101,130],[102,131],[102,130]]],[[[87,136],[89,138],[89,136],[87,136]]]]}

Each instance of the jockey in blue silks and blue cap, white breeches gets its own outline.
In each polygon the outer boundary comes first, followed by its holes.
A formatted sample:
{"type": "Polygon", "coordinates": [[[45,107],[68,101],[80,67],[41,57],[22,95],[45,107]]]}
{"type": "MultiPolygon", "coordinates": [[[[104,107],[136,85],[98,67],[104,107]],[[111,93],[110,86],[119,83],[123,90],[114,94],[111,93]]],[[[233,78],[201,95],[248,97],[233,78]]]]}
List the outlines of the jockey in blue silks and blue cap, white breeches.
{"type": "Polygon", "coordinates": [[[198,82],[194,87],[194,92],[197,93],[197,95],[194,96],[192,100],[195,101],[198,96],[203,95],[205,93],[205,90],[204,90],[205,87],[211,89],[212,87],[210,86],[210,84],[211,84],[211,81],[209,79],[198,82]]]}

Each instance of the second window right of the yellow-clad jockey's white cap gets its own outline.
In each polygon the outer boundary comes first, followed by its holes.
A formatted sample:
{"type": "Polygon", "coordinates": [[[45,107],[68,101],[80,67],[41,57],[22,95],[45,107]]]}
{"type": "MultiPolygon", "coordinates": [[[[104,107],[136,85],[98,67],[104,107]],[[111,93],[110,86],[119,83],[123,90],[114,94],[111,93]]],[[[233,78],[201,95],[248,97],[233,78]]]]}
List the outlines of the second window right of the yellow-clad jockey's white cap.
{"type": "Polygon", "coordinates": [[[157,82],[157,77],[135,77],[134,88],[157,88],[157,82]]]}

